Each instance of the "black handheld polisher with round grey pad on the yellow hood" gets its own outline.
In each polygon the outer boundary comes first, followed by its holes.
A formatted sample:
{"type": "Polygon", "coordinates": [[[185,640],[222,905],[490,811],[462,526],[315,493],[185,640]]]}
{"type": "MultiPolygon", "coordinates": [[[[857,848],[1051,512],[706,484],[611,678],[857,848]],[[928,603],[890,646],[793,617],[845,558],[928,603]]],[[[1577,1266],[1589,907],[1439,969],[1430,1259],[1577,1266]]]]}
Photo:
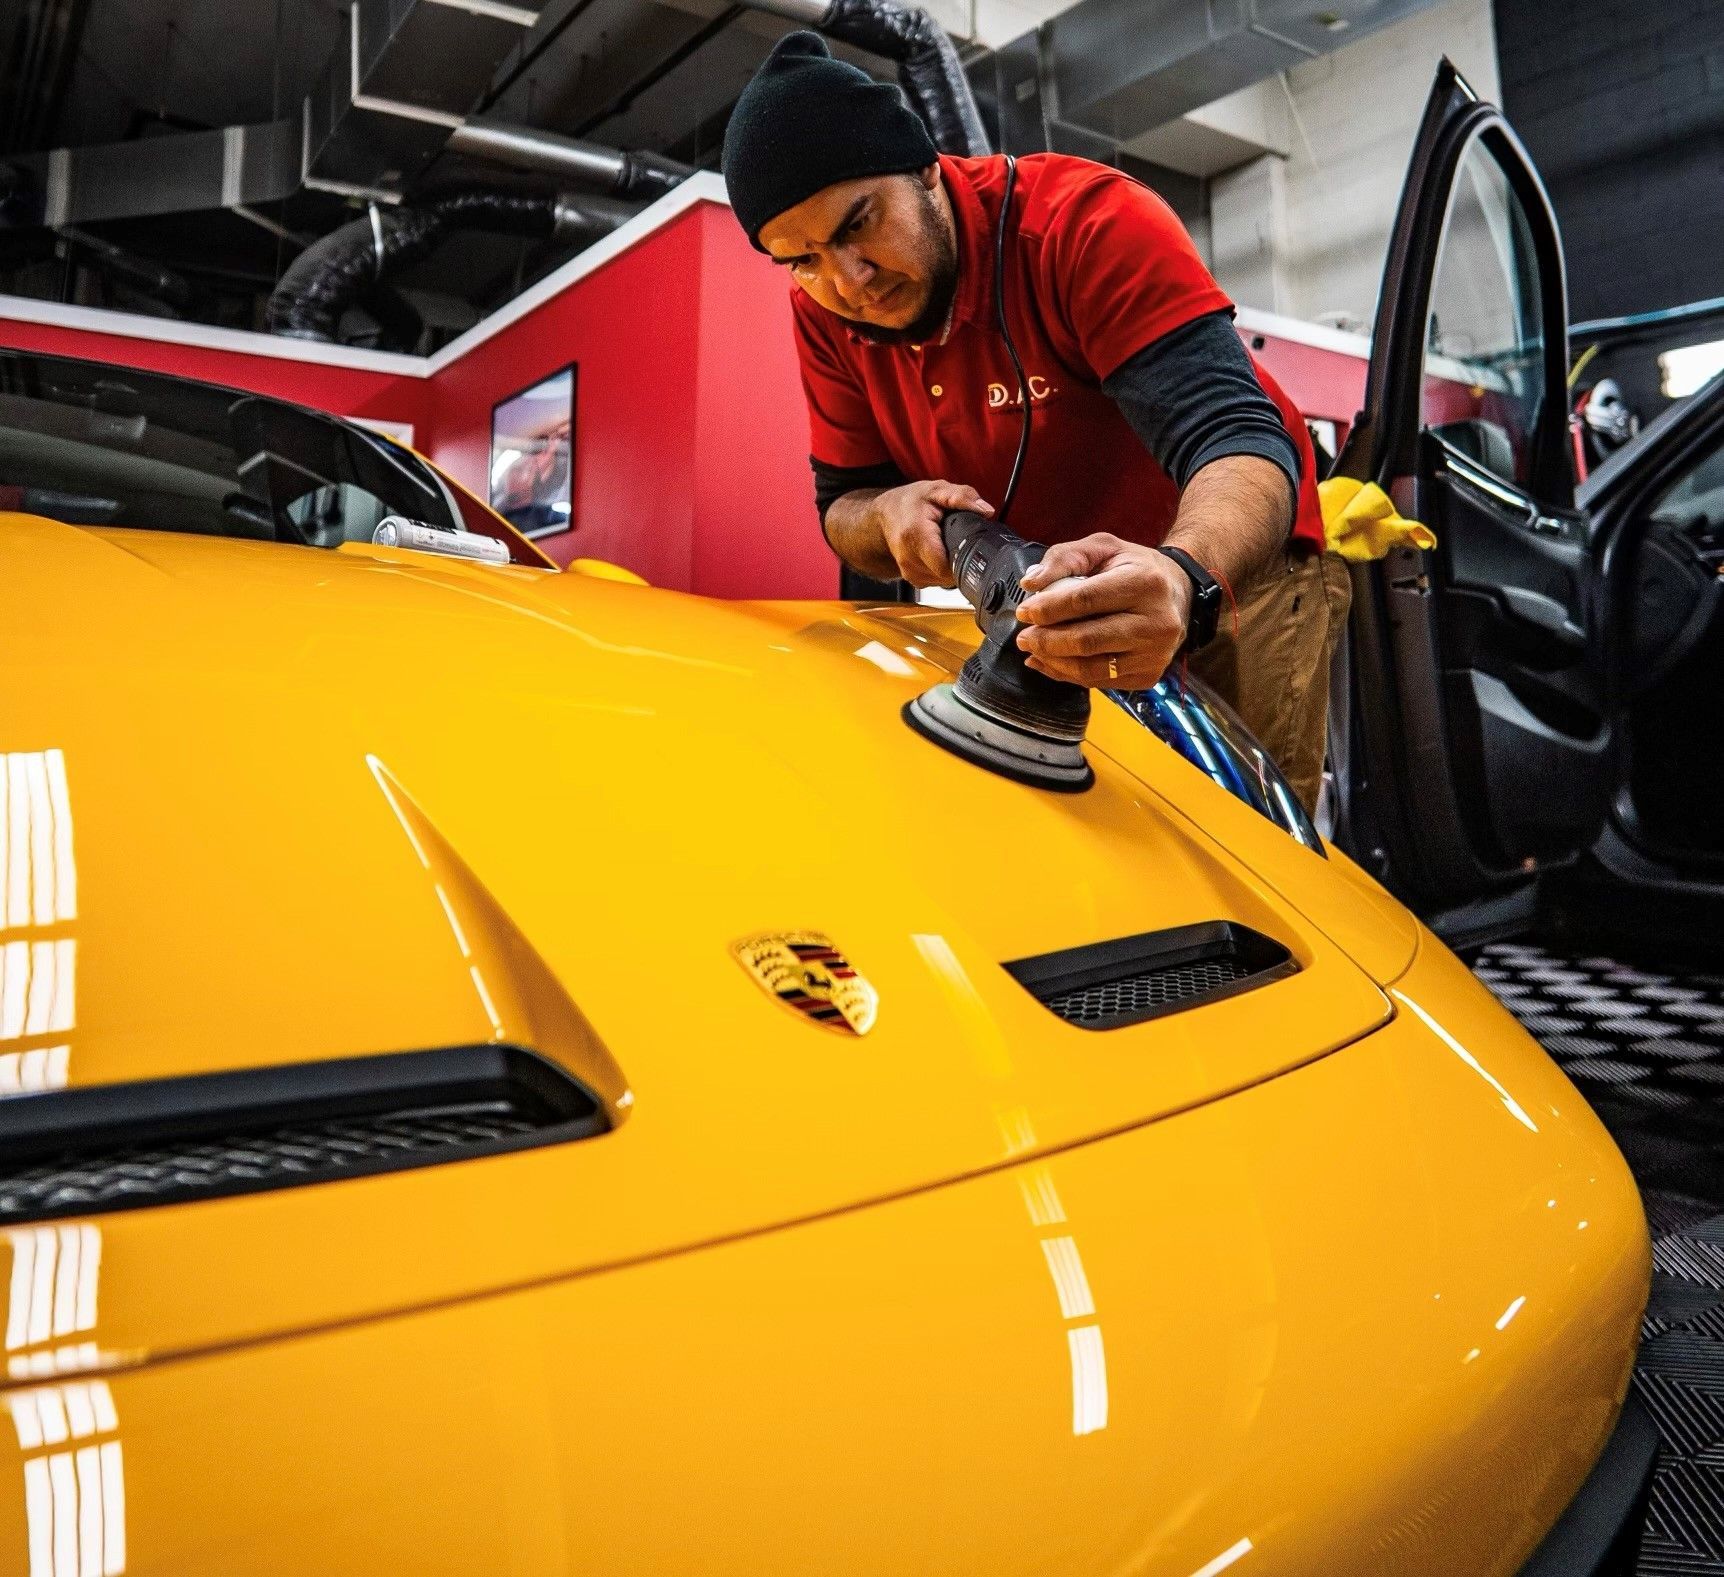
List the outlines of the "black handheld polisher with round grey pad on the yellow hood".
{"type": "Polygon", "coordinates": [[[952,510],[940,531],[983,643],[953,683],[907,703],[903,720],[941,750],[1002,777],[1069,795],[1090,788],[1095,772],[1081,748],[1090,691],[1026,667],[1017,645],[1022,576],[1046,548],[971,510],[952,510]]]}

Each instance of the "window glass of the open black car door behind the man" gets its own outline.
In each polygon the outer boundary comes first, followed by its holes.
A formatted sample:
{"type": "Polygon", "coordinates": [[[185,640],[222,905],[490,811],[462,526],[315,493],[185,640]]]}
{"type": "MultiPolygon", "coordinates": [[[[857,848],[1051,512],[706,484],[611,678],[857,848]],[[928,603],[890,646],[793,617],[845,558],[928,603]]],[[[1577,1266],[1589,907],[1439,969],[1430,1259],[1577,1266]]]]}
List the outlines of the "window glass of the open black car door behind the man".
{"type": "Polygon", "coordinates": [[[1455,178],[1431,288],[1421,421],[1524,486],[1546,388],[1538,260],[1526,209],[1486,138],[1455,178]]]}

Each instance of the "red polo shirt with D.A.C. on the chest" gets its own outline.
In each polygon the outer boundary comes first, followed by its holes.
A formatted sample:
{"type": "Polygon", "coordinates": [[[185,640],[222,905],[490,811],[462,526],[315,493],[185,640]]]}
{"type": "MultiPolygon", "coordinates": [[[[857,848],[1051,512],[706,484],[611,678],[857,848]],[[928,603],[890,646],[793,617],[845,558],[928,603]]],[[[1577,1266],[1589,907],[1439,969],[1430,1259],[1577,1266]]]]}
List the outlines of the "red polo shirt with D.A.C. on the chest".
{"type": "MultiPolygon", "coordinates": [[[[941,343],[879,345],[791,286],[814,458],[891,460],[907,477],[967,483],[998,505],[1017,452],[1019,391],[993,303],[1005,159],[940,157],[957,221],[959,288],[941,343]]],[[[1033,402],[1012,529],[1036,541],[1112,531],[1159,543],[1179,489],[1102,379],[1152,341],[1233,303],[1153,191],[1064,153],[1017,160],[1005,298],[1033,402]]],[[[1255,365],[1255,362],[1253,362],[1255,365]]],[[[1322,546],[1315,458],[1293,402],[1257,367],[1298,446],[1295,539],[1322,546]]]]}

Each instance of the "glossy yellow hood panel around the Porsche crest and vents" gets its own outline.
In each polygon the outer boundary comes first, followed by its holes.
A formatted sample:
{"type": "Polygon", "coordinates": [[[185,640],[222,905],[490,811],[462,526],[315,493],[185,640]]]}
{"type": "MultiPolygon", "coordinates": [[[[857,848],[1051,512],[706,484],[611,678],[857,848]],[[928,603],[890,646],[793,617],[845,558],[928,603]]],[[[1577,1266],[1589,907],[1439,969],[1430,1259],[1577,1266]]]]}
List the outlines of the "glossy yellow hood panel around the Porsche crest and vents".
{"type": "Polygon", "coordinates": [[[1410,920],[1345,862],[1112,707],[1084,795],[917,738],[900,707],[974,639],[953,615],[17,515],[0,579],[0,746],[33,807],[7,865],[14,1075],[31,1053],[38,1082],[83,1086],[497,1039],[615,1120],[110,1217],[117,1353],[646,1258],[1071,1146],[1355,1041],[1410,955],[1410,920]],[[1002,969],[1205,920],[1298,972],[1096,1034],[1002,969]],[[878,989],[872,1032],[805,1022],[733,957],[796,929],[878,989]]]}

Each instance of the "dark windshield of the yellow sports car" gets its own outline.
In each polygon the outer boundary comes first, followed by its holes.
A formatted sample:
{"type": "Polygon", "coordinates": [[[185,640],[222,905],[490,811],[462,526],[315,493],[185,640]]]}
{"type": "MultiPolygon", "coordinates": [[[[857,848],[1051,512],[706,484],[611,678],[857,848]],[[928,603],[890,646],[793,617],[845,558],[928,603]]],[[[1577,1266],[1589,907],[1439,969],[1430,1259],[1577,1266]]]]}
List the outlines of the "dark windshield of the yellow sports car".
{"type": "Polygon", "coordinates": [[[409,450],[352,422],[129,367],[0,352],[0,510],[334,548],[386,515],[541,560],[409,450]]]}

